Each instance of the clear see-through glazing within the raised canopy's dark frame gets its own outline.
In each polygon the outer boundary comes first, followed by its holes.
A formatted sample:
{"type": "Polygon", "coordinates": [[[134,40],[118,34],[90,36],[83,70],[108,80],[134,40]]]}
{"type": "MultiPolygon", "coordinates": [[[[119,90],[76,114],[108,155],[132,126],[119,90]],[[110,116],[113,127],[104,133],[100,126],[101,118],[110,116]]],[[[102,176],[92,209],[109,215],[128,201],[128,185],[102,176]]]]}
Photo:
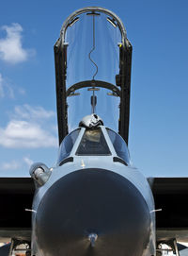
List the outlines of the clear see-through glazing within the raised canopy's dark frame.
{"type": "MultiPolygon", "coordinates": [[[[67,90],[86,80],[101,80],[116,86],[121,33],[112,17],[102,12],[81,14],[68,26],[65,39],[67,90]]],[[[96,88],[80,88],[68,96],[69,131],[92,112],[102,117],[105,126],[118,130],[119,97],[109,89],[97,85],[96,88]]]]}

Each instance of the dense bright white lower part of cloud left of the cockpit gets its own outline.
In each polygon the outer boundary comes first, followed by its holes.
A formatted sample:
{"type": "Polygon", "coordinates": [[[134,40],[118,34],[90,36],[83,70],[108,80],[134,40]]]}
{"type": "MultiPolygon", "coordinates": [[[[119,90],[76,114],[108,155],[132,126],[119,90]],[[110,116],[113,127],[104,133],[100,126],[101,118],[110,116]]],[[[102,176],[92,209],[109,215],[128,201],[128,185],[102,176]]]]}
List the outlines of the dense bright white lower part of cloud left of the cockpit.
{"type": "Polygon", "coordinates": [[[12,120],[6,128],[0,128],[0,145],[9,148],[52,147],[57,145],[57,140],[38,124],[12,120]]]}

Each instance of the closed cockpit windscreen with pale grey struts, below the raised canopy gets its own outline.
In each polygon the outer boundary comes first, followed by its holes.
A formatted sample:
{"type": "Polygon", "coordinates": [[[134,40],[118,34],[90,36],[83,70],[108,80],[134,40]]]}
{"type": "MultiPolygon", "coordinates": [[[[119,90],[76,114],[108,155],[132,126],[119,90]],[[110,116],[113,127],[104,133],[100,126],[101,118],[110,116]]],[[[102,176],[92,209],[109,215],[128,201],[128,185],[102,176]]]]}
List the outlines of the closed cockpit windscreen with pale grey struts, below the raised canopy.
{"type": "Polygon", "coordinates": [[[110,128],[77,128],[62,141],[57,165],[73,162],[78,157],[113,157],[114,162],[130,165],[128,147],[122,137],[110,128]]]}

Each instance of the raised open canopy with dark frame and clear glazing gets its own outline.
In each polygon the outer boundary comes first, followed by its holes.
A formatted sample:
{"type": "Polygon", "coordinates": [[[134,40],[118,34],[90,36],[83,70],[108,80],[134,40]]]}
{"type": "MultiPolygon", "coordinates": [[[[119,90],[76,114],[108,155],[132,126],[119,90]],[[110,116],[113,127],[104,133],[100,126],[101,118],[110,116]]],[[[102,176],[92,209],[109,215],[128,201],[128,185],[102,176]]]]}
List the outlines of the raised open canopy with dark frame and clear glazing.
{"type": "Polygon", "coordinates": [[[55,43],[59,144],[95,112],[128,143],[132,46],[116,14],[79,9],[55,43]]]}

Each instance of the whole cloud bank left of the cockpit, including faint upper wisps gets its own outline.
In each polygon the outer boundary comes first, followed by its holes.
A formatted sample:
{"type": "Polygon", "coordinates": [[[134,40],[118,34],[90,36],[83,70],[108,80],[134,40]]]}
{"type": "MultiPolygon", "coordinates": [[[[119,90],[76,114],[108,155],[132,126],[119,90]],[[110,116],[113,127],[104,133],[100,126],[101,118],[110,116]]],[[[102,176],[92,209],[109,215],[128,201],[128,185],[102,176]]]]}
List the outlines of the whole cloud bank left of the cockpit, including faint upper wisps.
{"type": "MultiPolygon", "coordinates": [[[[55,112],[25,104],[16,106],[6,127],[0,127],[0,145],[7,148],[56,147],[55,112]]],[[[24,160],[24,162],[28,160],[24,160]]]]}

